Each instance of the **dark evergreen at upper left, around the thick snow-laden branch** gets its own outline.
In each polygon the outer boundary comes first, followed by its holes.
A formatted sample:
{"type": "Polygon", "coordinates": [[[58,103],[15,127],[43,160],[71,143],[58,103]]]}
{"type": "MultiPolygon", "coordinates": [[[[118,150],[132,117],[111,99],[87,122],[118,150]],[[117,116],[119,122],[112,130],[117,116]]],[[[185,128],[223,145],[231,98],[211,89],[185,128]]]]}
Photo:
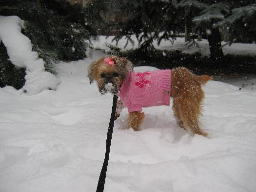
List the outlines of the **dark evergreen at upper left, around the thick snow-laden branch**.
{"type": "MultiPolygon", "coordinates": [[[[99,4],[97,2],[96,5],[99,4]]],[[[91,24],[93,20],[100,20],[98,15],[95,17],[97,11],[93,9],[92,6],[83,9],[79,4],[71,5],[65,0],[0,1],[0,15],[16,15],[25,20],[25,29],[22,33],[31,40],[33,51],[39,53],[39,58],[46,62],[46,70],[52,73],[56,73],[55,65],[58,60],[77,60],[86,57],[85,40],[91,41],[97,37],[97,31],[91,24]]],[[[1,86],[21,85],[24,79],[12,76],[13,70],[2,70],[10,68],[4,54],[0,54],[1,86]]]]}

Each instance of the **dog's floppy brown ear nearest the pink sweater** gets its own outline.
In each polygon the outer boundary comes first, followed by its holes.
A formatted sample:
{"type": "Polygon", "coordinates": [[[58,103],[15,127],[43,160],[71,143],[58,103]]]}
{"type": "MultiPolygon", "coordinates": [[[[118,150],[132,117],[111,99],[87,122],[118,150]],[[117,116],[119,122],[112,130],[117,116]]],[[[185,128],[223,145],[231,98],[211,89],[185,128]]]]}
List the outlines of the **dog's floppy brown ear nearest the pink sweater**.
{"type": "Polygon", "coordinates": [[[120,72],[120,75],[122,76],[123,80],[125,79],[125,77],[131,72],[133,71],[133,63],[131,61],[129,61],[127,58],[114,58],[118,70],[120,72]]]}

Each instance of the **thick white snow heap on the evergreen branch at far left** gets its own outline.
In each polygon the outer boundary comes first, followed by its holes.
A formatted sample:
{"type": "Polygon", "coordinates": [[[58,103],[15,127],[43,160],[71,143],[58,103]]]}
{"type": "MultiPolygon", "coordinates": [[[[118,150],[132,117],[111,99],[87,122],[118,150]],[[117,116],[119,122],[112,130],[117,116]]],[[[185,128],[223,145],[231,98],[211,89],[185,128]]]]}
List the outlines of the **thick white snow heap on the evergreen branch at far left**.
{"type": "Polygon", "coordinates": [[[46,89],[56,90],[59,78],[45,71],[45,62],[32,51],[32,43],[21,33],[21,28],[24,28],[24,21],[19,17],[0,16],[0,39],[10,61],[17,67],[26,68],[26,82],[22,90],[30,95],[46,89]]]}

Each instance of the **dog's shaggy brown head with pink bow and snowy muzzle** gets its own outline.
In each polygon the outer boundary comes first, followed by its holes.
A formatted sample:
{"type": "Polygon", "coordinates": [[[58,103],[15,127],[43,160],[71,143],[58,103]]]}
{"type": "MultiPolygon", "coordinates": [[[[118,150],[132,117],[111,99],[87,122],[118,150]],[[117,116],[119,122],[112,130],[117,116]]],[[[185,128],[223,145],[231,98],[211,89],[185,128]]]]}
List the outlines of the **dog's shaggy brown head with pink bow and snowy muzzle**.
{"type": "Polygon", "coordinates": [[[103,95],[107,92],[117,95],[119,86],[133,70],[133,64],[126,58],[111,56],[100,58],[88,67],[90,84],[96,80],[98,91],[103,95]]]}

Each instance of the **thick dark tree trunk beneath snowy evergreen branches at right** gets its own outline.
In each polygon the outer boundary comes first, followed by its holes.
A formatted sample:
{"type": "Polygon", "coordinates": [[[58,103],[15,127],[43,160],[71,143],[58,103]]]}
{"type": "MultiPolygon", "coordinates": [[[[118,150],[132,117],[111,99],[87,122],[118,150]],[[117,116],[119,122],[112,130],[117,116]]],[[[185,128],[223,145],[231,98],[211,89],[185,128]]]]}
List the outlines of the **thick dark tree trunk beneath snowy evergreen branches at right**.
{"type": "Polygon", "coordinates": [[[216,67],[225,65],[224,54],[221,48],[221,36],[218,28],[211,29],[211,34],[208,35],[211,59],[216,67]]]}

